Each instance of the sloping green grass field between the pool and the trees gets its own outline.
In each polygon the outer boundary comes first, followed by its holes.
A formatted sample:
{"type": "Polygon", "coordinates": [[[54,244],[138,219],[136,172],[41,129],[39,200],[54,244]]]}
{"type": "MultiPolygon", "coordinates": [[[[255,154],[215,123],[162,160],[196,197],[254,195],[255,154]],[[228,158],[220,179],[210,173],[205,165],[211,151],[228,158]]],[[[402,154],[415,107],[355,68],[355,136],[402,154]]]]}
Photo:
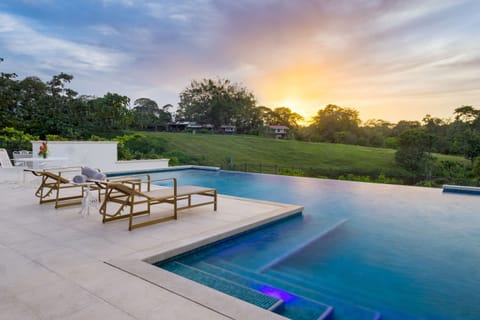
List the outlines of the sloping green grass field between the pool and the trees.
{"type": "MultiPolygon", "coordinates": [[[[314,168],[318,172],[383,173],[408,176],[395,163],[395,150],[343,144],[301,142],[247,135],[191,133],[148,133],[166,141],[168,150],[180,150],[201,165],[227,167],[229,159],[236,167],[245,163],[262,168],[314,168]]],[[[463,162],[463,158],[435,155],[437,159],[463,162]]],[[[258,170],[254,170],[258,171],[258,170]]]]}

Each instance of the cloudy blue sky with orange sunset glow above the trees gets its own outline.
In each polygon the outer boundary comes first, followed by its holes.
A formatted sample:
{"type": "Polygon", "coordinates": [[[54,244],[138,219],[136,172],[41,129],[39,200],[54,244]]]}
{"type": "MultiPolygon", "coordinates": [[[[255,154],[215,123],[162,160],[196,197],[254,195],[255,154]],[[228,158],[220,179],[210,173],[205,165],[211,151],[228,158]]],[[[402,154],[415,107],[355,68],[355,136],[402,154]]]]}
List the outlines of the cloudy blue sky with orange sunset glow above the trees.
{"type": "Polygon", "coordinates": [[[452,118],[480,107],[480,0],[2,0],[1,72],[159,106],[229,79],[308,120],[452,118]]]}

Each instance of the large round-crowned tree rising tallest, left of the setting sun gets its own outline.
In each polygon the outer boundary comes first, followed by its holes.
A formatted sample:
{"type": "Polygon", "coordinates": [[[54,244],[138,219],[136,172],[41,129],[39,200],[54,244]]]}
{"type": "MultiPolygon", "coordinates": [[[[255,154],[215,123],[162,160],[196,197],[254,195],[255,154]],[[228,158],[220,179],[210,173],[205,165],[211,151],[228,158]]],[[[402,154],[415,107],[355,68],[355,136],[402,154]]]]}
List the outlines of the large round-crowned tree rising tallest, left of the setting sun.
{"type": "Polygon", "coordinates": [[[229,80],[193,80],[180,93],[178,116],[200,124],[242,125],[255,108],[255,97],[246,88],[229,80]]]}

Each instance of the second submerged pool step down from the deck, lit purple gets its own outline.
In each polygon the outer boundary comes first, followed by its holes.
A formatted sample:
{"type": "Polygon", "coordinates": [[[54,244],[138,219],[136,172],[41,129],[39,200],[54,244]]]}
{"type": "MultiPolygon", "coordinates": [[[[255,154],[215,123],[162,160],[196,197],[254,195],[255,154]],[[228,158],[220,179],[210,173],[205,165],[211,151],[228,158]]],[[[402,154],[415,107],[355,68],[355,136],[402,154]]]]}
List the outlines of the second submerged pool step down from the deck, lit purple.
{"type": "Polygon", "coordinates": [[[198,268],[206,273],[214,274],[217,277],[228,279],[241,286],[249,287],[263,294],[278,297],[286,302],[282,307],[282,315],[295,320],[330,320],[333,319],[333,308],[324,303],[300,297],[285,290],[275,288],[267,283],[259,280],[247,278],[238,273],[227,269],[212,265],[207,262],[199,262],[195,264],[198,268]],[[295,301],[294,301],[295,300],[295,301]],[[286,310],[288,309],[288,310],[286,310]],[[301,309],[301,313],[298,312],[301,309]]]}

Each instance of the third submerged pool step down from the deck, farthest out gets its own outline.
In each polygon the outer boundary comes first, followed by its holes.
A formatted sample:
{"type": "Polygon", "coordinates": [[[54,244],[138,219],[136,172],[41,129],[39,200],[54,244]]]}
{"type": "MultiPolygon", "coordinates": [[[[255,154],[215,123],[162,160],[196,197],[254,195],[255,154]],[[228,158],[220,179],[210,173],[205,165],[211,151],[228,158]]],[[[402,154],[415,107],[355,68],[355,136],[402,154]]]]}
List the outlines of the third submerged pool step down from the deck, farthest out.
{"type": "Polygon", "coordinates": [[[335,296],[335,293],[328,289],[322,289],[322,292],[307,289],[298,285],[298,279],[292,278],[289,275],[283,274],[279,271],[269,270],[268,273],[257,273],[254,270],[249,270],[236,264],[230,263],[222,259],[212,260],[216,266],[228,270],[232,273],[239,274],[245,278],[252,279],[261,283],[267,283],[270,286],[281,288],[294,295],[302,297],[311,297],[315,301],[321,301],[324,305],[329,305],[334,308],[335,320],[343,319],[358,319],[358,320],[380,320],[381,314],[378,311],[369,309],[367,307],[358,306],[344,301],[335,296]]]}

